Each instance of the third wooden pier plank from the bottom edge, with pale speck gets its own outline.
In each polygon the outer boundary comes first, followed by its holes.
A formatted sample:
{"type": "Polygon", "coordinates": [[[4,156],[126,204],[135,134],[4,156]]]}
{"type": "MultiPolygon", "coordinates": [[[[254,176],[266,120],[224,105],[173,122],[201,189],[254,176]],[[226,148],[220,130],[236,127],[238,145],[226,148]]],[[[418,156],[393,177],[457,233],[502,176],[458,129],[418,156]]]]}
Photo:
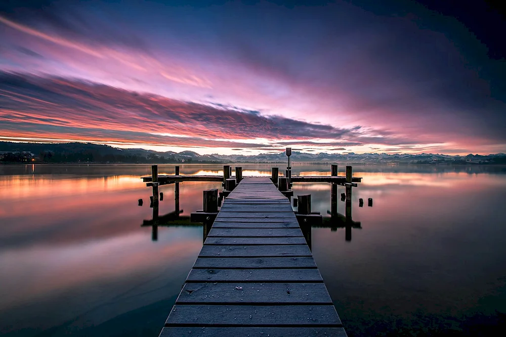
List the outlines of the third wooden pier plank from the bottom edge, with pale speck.
{"type": "Polygon", "coordinates": [[[176,304],[332,304],[323,283],[185,283],[176,304]]]}

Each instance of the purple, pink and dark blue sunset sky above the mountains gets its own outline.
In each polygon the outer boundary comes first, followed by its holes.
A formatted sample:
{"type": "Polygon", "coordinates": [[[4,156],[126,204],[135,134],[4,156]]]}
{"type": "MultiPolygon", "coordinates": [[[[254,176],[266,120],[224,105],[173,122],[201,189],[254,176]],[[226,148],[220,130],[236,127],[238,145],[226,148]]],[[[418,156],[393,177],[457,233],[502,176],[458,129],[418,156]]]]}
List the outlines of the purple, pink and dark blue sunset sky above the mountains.
{"type": "Polygon", "coordinates": [[[2,1],[0,140],[506,153],[504,12],[378,3],[2,1]]]}

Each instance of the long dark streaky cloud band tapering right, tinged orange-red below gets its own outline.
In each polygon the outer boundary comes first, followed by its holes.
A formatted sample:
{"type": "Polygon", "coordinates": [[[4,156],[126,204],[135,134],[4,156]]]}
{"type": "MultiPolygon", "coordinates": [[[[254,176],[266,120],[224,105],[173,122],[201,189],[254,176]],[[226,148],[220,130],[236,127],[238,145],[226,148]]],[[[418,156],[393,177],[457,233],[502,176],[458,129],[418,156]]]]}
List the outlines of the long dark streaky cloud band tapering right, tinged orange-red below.
{"type": "Polygon", "coordinates": [[[340,129],[281,116],[218,109],[62,78],[2,73],[0,89],[8,92],[2,97],[4,120],[30,125],[101,127],[110,132],[170,133],[216,139],[307,139],[287,142],[294,145],[307,144],[312,138],[361,136],[357,127],[340,129]]]}

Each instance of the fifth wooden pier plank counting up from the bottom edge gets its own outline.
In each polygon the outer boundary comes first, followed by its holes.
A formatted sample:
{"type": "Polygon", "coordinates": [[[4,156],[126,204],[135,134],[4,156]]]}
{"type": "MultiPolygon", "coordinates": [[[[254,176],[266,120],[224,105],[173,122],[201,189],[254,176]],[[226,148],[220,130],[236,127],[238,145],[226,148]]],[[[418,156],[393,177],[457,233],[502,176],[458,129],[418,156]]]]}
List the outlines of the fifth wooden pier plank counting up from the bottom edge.
{"type": "Polygon", "coordinates": [[[193,268],[316,268],[312,257],[294,258],[197,258],[193,268]]]}

